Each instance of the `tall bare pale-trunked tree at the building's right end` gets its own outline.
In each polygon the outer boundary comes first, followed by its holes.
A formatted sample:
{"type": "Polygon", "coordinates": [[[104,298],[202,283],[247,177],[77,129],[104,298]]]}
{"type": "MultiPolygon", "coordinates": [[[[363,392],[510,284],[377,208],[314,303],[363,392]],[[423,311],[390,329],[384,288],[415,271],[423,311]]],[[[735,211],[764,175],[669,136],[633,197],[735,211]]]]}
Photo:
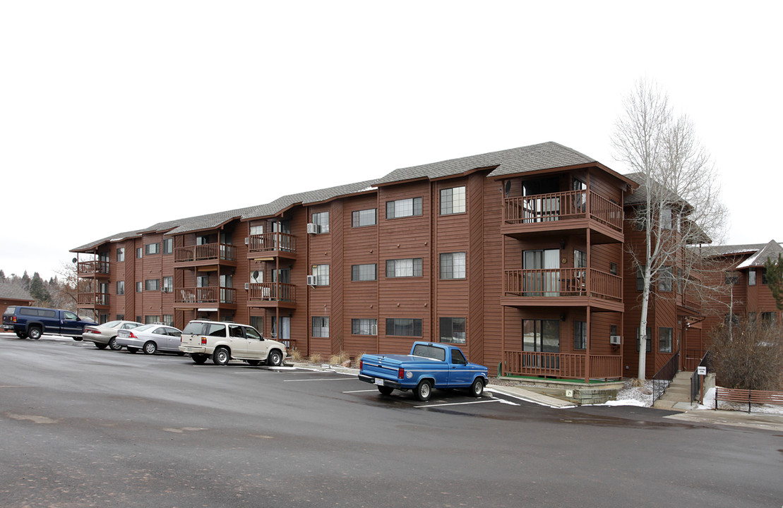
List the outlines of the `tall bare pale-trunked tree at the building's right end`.
{"type": "Polygon", "coordinates": [[[640,184],[637,229],[644,240],[629,252],[644,281],[639,323],[639,370],[644,380],[648,308],[653,282],[698,286],[701,260],[687,246],[723,237],[727,209],[720,203],[717,175],[698,142],[692,122],[675,117],[668,96],[650,81],[638,81],[626,97],[612,136],[615,159],[640,184]]]}

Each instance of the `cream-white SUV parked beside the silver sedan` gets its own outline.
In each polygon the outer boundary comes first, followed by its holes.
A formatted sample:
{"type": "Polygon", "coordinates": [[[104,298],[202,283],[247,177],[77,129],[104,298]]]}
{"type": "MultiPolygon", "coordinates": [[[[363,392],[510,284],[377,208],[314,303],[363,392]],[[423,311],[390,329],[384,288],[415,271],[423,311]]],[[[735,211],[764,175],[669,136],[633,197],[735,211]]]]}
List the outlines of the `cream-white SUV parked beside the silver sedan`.
{"type": "Polygon", "coordinates": [[[252,326],[236,322],[197,319],[188,323],[180,338],[179,351],[189,353],[193,362],[199,364],[212,358],[215,365],[236,359],[252,366],[261,362],[280,366],[287,355],[284,344],[265,339],[252,326]]]}

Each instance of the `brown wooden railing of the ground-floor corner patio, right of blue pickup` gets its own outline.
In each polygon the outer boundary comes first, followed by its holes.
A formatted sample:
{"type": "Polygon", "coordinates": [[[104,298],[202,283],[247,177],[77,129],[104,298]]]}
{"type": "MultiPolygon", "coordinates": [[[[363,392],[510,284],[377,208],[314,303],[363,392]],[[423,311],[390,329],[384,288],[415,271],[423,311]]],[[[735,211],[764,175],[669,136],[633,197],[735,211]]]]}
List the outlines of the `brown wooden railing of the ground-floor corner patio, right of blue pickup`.
{"type": "Polygon", "coordinates": [[[547,376],[565,379],[622,378],[622,356],[579,353],[542,353],[539,351],[503,351],[503,374],[512,376],[547,376]]]}

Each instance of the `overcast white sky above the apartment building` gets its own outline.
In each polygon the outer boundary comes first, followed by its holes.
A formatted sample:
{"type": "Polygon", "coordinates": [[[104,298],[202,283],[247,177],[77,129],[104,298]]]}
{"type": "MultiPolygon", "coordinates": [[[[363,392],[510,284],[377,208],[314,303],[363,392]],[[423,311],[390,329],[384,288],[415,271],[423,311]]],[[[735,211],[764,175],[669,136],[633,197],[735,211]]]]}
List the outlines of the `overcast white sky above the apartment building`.
{"type": "Polygon", "coordinates": [[[609,139],[640,77],[713,154],[728,243],[783,241],[781,19],[783,2],[0,0],[0,268],[52,276],[117,232],[539,142],[626,172],[609,139]]]}

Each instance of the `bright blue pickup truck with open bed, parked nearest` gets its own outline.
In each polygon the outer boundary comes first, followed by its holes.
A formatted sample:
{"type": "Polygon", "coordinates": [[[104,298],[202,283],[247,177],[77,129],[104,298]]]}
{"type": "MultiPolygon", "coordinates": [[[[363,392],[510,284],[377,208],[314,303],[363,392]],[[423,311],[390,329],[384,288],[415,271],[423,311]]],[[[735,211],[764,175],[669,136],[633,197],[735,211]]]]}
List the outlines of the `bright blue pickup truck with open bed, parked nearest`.
{"type": "Polygon", "coordinates": [[[414,342],[410,355],[362,355],[359,380],[376,385],[382,395],[413,390],[420,401],[428,401],[432,388],[469,388],[471,395],[481,397],[489,371],[468,362],[451,344],[414,342]]]}

